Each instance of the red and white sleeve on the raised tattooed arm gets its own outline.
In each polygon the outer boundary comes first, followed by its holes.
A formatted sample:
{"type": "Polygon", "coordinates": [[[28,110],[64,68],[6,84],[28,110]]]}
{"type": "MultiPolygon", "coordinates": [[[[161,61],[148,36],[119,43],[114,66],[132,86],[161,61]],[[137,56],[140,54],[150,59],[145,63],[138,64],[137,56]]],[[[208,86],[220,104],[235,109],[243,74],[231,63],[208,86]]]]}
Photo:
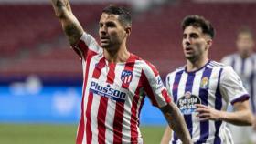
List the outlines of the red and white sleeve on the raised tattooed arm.
{"type": "Polygon", "coordinates": [[[80,57],[86,57],[88,55],[88,51],[95,53],[102,52],[102,48],[98,45],[97,41],[90,34],[85,32],[80,37],[78,44],[72,46],[72,48],[80,57]]]}

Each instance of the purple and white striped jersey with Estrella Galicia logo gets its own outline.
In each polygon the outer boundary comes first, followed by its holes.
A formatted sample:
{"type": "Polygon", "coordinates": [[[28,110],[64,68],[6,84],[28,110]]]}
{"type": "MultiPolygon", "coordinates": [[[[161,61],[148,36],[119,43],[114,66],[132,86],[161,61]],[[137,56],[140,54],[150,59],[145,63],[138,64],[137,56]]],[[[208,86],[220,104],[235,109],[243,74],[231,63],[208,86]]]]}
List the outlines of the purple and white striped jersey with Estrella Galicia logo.
{"type": "MultiPolygon", "coordinates": [[[[167,75],[166,87],[182,112],[194,143],[232,143],[224,121],[199,121],[195,112],[195,104],[226,110],[229,103],[249,98],[232,67],[225,67],[215,61],[208,61],[204,67],[193,72],[180,67],[167,75]]],[[[174,133],[170,143],[182,142],[174,133]]]]}

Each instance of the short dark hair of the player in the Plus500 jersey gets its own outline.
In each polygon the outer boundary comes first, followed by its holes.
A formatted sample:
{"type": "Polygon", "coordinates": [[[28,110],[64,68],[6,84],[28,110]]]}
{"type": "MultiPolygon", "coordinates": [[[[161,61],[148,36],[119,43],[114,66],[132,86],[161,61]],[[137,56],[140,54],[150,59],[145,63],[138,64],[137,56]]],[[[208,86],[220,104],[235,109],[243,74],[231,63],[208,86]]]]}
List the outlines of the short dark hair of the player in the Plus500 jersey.
{"type": "Polygon", "coordinates": [[[132,26],[132,16],[130,11],[121,6],[117,5],[108,5],[105,7],[102,11],[102,13],[106,13],[109,15],[119,15],[119,21],[124,25],[124,26],[132,26]]]}

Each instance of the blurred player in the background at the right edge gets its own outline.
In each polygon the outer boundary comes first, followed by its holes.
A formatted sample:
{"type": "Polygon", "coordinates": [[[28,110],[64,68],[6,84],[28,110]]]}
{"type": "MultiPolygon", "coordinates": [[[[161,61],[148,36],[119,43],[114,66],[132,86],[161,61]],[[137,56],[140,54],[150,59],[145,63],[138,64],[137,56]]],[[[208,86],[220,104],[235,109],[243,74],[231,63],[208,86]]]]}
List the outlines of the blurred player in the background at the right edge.
{"type": "MultiPolygon", "coordinates": [[[[244,87],[250,93],[251,111],[256,114],[256,54],[253,52],[254,36],[248,27],[242,27],[237,36],[237,52],[223,57],[222,63],[234,68],[240,76],[244,87]]],[[[230,107],[231,108],[231,107],[230,107]]],[[[232,108],[230,110],[233,110],[232,108]]],[[[253,131],[251,127],[238,127],[229,125],[234,142],[244,144],[251,142],[253,131]]],[[[256,137],[254,135],[254,137],[256,137]]],[[[256,139],[256,138],[255,138],[256,139]]]]}

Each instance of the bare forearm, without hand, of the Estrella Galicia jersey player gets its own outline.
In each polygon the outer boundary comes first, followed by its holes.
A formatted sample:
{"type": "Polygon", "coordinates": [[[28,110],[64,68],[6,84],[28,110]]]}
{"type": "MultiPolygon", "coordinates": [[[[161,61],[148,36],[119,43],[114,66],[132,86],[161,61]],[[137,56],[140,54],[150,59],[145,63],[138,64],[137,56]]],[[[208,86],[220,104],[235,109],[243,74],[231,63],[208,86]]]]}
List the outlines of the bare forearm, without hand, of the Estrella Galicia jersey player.
{"type": "Polygon", "coordinates": [[[250,110],[241,110],[235,112],[221,111],[220,119],[238,126],[251,126],[253,116],[250,110]]]}

